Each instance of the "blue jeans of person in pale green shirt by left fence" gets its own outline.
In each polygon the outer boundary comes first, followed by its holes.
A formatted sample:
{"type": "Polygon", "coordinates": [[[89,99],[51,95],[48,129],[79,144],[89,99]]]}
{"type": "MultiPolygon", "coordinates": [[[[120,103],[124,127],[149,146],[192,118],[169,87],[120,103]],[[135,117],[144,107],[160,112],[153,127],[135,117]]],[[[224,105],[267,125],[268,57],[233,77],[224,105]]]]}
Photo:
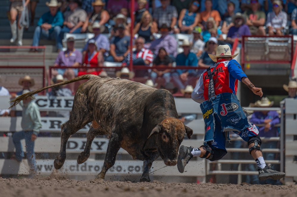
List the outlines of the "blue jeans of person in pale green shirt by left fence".
{"type": "Polygon", "coordinates": [[[12,136],[13,144],[15,145],[15,158],[17,161],[21,162],[24,157],[23,148],[21,145],[21,140],[25,139],[26,150],[27,150],[27,160],[29,167],[32,171],[36,172],[36,162],[34,154],[34,141],[31,141],[31,136],[33,131],[30,132],[15,132],[12,136]]]}

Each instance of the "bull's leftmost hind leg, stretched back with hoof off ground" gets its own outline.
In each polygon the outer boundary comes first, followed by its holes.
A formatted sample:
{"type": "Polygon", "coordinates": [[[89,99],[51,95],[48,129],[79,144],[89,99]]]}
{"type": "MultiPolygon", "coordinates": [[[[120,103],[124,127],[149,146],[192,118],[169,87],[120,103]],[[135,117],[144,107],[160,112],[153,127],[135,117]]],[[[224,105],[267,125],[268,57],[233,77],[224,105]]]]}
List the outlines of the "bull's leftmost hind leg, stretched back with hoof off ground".
{"type": "Polygon", "coordinates": [[[82,129],[86,124],[94,120],[93,112],[89,111],[87,99],[84,96],[74,97],[72,111],[69,120],[61,126],[61,148],[58,157],[54,161],[56,169],[60,169],[66,159],[66,145],[70,135],[82,129]]]}

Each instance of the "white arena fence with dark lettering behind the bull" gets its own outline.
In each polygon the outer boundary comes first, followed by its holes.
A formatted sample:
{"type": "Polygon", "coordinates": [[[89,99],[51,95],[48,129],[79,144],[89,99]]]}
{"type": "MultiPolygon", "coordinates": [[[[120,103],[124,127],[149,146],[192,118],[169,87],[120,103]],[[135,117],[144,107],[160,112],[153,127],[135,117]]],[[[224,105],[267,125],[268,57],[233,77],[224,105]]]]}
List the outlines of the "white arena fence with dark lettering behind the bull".
{"type": "MultiPolygon", "coordinates": [[[[8,107],[8,101],[10,99],[8,97],[0,97],[0,108],[7,108],[8,107]]],[[[43,113],[44,111],[49,115],[51,111],[64,111],[69,113],[69,111],[72,108],[73,104],[73,97],[46,97],[46,96],[37,96],[36,101],[37,105],[40,108],[40,111],[43,113]]],[[[186,146],[194,146],[199,147],[203,143],[203,137],[204,137],[204,121],[202,112],[199,108],[199,105],[192,101],[190,98],[175,98],[176,108],[179,115],[182,114],[191,114],[195,113],[197,114],[197,119],[186,122],[185,124],[189,126],[194,131],[194,135],[192,137],[192,140],[188,140],[185,138],[185,140],[182,142],[183,145],[186,146]]],[[[296,109],[297,104],[287,105],[290,106],[290,109],[296,109]]],[[[21,106],[16,105],[13,110],[22,110],[21,106]]],[[[280,108],[247,108],[249,112],[253,112],[254,110],[277,110],[280,111],[280,108]]],[[[53,159],[56,157],[57,153],[60,149],[60,132],[61,132],[61,124],[66,122],[68,120],[69,114],[65,117],[42,117],[42,128],[40,130],[41,133],[48,132],[52,134],[52,136],[56,137],[38,137],[35,143],[35,152],[36,153],[54,153],[54,156],[47,159],[37,159],[37,166],[38,170],[41,174],[50,174],[52,172],[53,168],[53,159]]],[[[286,114],[293,113],[292,110],[287,110],[286,114]]],[[[296,113],[296,112],[294,112],[296,113]]],[[[64,113],[65,114],[65,113],[64,113]]],[[[296,115],[295,115],[296,116],[296,115]]],[[[292,118],[294,118],[294,115],[292,115],[292,118]]],[[[281,118],[283,121],[283,118],[281,118]]],[[[291,126],[295,124],[296,127],[296,117],[295,122],[286,119],[289,123],[291,123],[291,126]]],[[[12,133],[21,131],[21,117],[1,117],[0,118],[0,132],[4,132],[4,134],[7,135],[7,137],[0,137],[0,152],[5,153],[13,153],[14,152],[14,145],[12,143],[12,133]]],[[[289,124],[288,123],[288,124],[289,124]]],[[[287,124],[287,123],[286,123],[287,124]]],[[[277,125],[277,126],[281,126],[277,125]]],[[[287,127],[289,128],[289,127],[287,127]]],[[[81,136],[84,136],[85,133],[89,130],[89,125],[86,125],[83,129],[79,130],[77,133],[81,136]]],[[[293,129],[291,130],[294,131],[293,129]]],[[[263,142],[265,141],[280,141],[281,146],[283,147],[283,128],[281,127],[280,137],[271,137],[271,138],[262,138],[263,142]]],[[[290,135],[291,138],[295,137],[295,134],[290,135]]],[[[294,138],[295,139],[295,138],[294,138]]],[[[241,140],[241,138],[232,138],[231,143],[234,140],[241,140]]],[[[78,154],[84,149],[84,145],[86,142],[86,138],[83,137],[70,137],[67,143],[67,154],[72,154],[73,157],[71,159],[67,159],[65,161],[64,167],[59,170],[61,173],[68,173],[68,174],[75,174],[75,175],[92,175],[95,176],[100,172],[103,165],[103,158],[96,159],[96,155],[104,155],[106,153],[106,148],[108,144],[108,140],[104,136],[99,136],[98,138],[95,138],[94,142],[92,143],[92,149],[91,149],[91,156],[88,159],[88,161],[85,164],[78,165],[76,163],[76,158],[78,154]]],[[[226,142],[228,143],[228,142],[226,142]]],[[[286,141],[287,143],[287,141],[286,141]]],[[[292,143],[289,144],[292,146],[292,143]]],[[[23,142],[23,147],[25,146],[25,143],[23,142]]],[[[294,151],[296,150],[296,146],[287,147],[286,149],[290,151],[286,151],[286,159],[290,159],[287,163],[291,164],[292,168],[294,165],[296,165],[296,161],[291,161],[292,157],[293,160],[296,156],[294,156],[294,151]],[[295,147],[295,149],[294,149],[295,147]],[[291,154],[291,155],[290,155],[291,154]],[[290,155],[290,156],[289,156],[290,155]],[[292,156],[293,155],[293,156],[292,156]]],[[[284,163],[284,156],[283,151],[281,151],[281,148],[273,148],[273,149],[263,149],[263,153],[265,152],[273,152],[273,153],[279,153],[280,159],[279,160],[266,160],[267,164],[280,164],[281,165],[281,171],[284,170],[284,166],[282,165],[284,163]]],[[[248,153],[248,148],[227,148],[227,151],[230,153],[239,152],[240,154],[248,153]]],[[[226,156],[227,156],[226,155],[226,156]]],[[[225,156],[225,157],[226,157],[225,156]]],[[[134,174],[141,174],[142,171],[142,161],[132,160],[131,157],[127,154],[125,150],[120,149],[119,156],[117,158],[116,164],[112,169],[108,171],[108,173],[114,173],[117,175],[127,175],[129,172],[130,175],[134,174]],[[119,159],[118,159],[119,158],[119,159]],[[121,159],[122,158],[122,159],[121,159]]],[[[234,160],[232,158],[223,158],[219,161],[210,162],[205,159],[201,158],[194,158],[192,159],[189,164],[185,168],[185,173],[180,174],[177,171],[176,166],[169,167],[167,166],[164,169],[160,169],[158,171],[153,172],[156,176],[165,176],[165,177],[184,177],[184,178],[190,178],[190,177],[197,177],[197,180],[200,182],[206,181],[206,175],[210,176],[216,176],[220,174],[224,175],[232,175],[235,174],[238,176],[238,183],[241,183],[243,181],[242,175],[249,175],[249,174],[257,174],[257,171],[244,171],[243,165],[245,164],[254,164],[255,161],[252,159],[251,156],[247,157],[246,159],[237,159],[234,160]],[[197,160],[196,160],[197,159],[197,160]],[[231,164],[238,164],[238,169],[229,169],[226,170],[224,166],[228,165],[230,168],[231,164]],[[215,167],[211,167],[212,165],[215,165],[215,167]]],[[[158,159],[153,164],[153,170],[162,168],[164,166],[164,162],[158,159]]],[[[290,167],[290,168],[291,168],[290,167]]],[[[0,169],[1,174],[28,174],[27,170],[28,166],[26,163],[26,160],[24,160],[21,164],[18,164],[16,161],[4,158],[0,159],[0,169]]],[[[294,170],[292,170],[294,171],[294,170]]],[[[284,172],[284,171],[283,171],[284,172]]],[[[286,170],[287,172],[287,170],[286,170]]],[[[288,173],[289,180],[296,173],[295,171],[292,172],[292,174],[288,173]]],[[[107,174],[108,175],[108,174],[107,174]]],[[[287,177],[286,177],[287,178],[287,177]]],[[[226,180],[227,181],[227,180],[226,180]]]]}

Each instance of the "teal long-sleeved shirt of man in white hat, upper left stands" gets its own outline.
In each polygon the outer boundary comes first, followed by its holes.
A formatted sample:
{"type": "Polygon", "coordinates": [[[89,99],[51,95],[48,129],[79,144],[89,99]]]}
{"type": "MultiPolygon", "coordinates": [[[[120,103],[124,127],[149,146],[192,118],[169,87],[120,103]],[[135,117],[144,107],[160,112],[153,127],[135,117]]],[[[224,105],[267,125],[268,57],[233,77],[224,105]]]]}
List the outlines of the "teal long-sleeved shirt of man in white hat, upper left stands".
{"type": "Polygon", "coordinates": [[[52,33],[54,31],[54,27],[55,26],[61,26],[62,27],[63,26],[63,22],[64,22],[64,17],[63,17],[62,12],[58,11],[56,13],[56,15],[53,16],[53,15],[51,15],[50,11],[48,11],[48,12],[44,13],[40,17],[37,25],[40,26],[43,23],[51,24],[52,28],[49,29],[49,33],[52,33]]]}

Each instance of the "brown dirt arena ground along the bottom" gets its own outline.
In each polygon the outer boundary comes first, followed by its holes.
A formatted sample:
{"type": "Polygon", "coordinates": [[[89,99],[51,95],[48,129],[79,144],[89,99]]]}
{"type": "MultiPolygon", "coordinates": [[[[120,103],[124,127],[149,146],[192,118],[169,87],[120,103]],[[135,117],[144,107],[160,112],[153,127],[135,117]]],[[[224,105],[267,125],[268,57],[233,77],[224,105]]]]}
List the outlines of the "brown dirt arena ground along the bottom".
{"type": "Polygon", "coordinates": [[[66,178],[3,179],[0,178],[0,196],[30,197],[206,197],[246,196],[280,197],[297,196],[297,185],[225,185],[187,184],[166,182],[121,182],[95,180],[77,181],[66,178]]]}

